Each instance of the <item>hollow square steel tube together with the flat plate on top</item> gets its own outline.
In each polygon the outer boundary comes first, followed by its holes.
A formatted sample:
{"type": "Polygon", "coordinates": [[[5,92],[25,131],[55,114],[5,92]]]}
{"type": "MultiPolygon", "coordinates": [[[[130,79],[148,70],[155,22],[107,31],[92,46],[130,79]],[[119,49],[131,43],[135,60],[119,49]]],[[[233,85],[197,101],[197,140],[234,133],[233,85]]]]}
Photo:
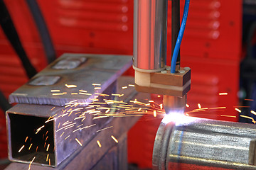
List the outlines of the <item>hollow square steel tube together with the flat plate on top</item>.
{"type": "Polygon", "coordinates": [[[18,104],[6,112],[9,159],[56,167],[90,142],[112,118],[96,118],[98,113],[89,106],[97,98],[101,107],[111,108],[104,99],[117,97],[112,95],[116,80],[131,65],[127,56],[65,54],[36,74],[10,96],[11,103],[18,104]],[[70,61],[74,65],[67,66],[70,61]],[[70,84],[75,88],[67,88],[70,84]]]}

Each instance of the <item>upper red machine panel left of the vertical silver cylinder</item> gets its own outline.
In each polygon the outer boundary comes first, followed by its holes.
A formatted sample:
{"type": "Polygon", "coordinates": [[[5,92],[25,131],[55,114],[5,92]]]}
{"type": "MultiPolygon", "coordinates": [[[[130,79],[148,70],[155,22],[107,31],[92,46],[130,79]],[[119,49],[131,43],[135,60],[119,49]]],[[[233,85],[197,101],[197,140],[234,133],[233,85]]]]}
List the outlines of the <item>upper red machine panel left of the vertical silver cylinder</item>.
{"type": "Polygon", "coordinates": [[[133,1],[39,1],[56,50],[132,55],[133,1]]]}

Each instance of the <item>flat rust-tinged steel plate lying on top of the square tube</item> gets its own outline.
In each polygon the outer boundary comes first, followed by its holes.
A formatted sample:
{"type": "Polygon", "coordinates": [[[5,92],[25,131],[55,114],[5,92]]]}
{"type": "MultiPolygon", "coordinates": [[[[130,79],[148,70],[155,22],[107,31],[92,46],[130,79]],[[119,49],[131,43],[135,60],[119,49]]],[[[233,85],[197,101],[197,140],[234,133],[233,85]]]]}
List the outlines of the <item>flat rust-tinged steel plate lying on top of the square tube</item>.
{"type": "Polygon", "coordinates": [[[90,103],[90,98],[95,96],[95,92],[102,93],[105,91],[131,65],[131,56],[64,54],[48,65],[46,69],[43,69],[42,72],[36,74],[31,81],[14,91],[9,96],[9,101],[11,103],[54,106],[64,106],[65,103],[73,100],[78,100],[79,103],[90,103]],[[69,62],[73,60],[75,66],[65,65],[69,63],[65,60],[69,62]],[[80,64],[77,64],[78,61],[80,61],[80,64]],[[101,84],[101,89],[95,90],[95,86],[92,86],[93,83],[101,84]],[[67,88],[65,84],[77,87],[67,88]],[[50,92],[53,89],[59,90],[58,93],[62,95],[53,96],[54,93],[50,92]],[[79,90],[87,91],[87,94],[92,94],[92,96],[80,94],[79,90]],[[78,93],[78,95],[74,96],[74,93],[78,93]]]}

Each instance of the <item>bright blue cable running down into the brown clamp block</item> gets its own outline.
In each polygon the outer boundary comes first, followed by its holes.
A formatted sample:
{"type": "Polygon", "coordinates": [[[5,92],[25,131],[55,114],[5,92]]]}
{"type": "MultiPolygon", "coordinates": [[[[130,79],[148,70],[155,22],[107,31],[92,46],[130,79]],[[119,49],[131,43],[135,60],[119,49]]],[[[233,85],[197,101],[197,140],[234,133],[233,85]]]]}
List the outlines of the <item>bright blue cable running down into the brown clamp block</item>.
{"type": "Polygon", "coordinates": [[[174,47],[174,54],[173,54],[173,57],[172,57],[172,60],[171,60],[171,73],[173,73],[173,74],[175,73],[178,51],[181,47],[181,40],[183,38],[183,34],[184,34],[184,31],[185,31],[185,27],[186,27],[186,21],[187,21],[187,18],[188,18],[189,1],[190,0],[185,1],[183,17],[182,17],[182,22],[181,22],[181,29],[178,32],[178,38],[177,38],[177,41],[176,41],[176,45],[174,47]]]}

